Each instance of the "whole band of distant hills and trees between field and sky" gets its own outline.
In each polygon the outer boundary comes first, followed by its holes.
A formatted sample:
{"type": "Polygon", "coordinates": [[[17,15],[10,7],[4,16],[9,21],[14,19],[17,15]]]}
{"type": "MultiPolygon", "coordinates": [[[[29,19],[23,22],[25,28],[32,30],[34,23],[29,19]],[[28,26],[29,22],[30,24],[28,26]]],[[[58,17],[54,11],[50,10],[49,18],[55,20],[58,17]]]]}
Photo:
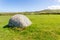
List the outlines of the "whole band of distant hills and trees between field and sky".
{"type": "Polygon", "coordinates": [[[15,15],[15,14],[24,14],[24,15],[40,15],[40,14],[60,14],[60,9],[44,9],[41,11],[34,12],[3,12],[0,15],[15,15]]]}

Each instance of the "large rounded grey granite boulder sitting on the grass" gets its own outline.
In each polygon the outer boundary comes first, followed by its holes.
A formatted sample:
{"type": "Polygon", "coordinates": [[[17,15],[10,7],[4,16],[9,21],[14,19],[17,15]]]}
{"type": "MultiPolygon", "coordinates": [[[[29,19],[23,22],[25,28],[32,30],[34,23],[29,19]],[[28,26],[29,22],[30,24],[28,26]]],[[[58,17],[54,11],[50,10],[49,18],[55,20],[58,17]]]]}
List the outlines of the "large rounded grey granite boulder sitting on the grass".
{"type": "Polygon", "coordinates": [[[10,18],[8,26],[25,28],[32,24],[25,15],[17,14],[10,18]]]}

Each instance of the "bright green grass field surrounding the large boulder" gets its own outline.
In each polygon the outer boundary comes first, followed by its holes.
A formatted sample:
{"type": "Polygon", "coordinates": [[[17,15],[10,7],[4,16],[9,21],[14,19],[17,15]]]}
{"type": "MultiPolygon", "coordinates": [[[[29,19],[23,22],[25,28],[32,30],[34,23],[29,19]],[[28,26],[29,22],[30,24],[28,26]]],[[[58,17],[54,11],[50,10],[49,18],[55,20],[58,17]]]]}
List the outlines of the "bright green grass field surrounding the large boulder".
{"type": "Polygon", "coordinates": [[[18,31],[3,28],[11,16],[0,16],[0,40],[60,40],[60,15],[26,15],[32,25],[18,31]]]}

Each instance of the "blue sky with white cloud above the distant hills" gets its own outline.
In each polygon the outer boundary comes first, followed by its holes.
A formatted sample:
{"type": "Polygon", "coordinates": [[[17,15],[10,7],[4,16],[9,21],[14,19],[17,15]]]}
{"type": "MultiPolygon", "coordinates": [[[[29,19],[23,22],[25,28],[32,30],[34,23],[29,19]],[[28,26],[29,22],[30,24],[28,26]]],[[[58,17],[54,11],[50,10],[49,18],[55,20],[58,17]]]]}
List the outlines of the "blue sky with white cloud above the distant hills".
{"type": "Polygon", "coordinates": [[[0,12],[40,11],[60,8],[60,0],[0,0],[0,12]]]}

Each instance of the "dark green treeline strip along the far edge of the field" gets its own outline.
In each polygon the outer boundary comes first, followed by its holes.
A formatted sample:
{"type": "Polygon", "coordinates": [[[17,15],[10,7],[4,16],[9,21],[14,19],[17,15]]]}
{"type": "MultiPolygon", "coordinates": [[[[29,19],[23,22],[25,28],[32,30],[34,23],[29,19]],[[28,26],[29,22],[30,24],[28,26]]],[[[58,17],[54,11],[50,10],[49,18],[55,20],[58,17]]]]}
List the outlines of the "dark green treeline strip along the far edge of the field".
{"type": "Polygon", "coordinates": [[[49,14],[59,14],[60,13],[40,13],[40,12],[19,12],[19,13],[0,13],[0,16],[5,16],[5,15],[15,15],[15,14],[23,14],[23,15],[49,15],[49,14]]]}

